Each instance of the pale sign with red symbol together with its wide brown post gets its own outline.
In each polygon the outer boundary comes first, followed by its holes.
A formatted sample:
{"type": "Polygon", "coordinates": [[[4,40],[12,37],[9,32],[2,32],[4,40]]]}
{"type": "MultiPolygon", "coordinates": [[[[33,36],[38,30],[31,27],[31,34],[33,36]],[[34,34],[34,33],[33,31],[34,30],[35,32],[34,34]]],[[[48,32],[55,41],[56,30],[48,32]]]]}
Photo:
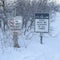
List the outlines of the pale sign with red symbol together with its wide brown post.
{"type": "Polygon", "coordinates": [[[23,19],[22,19],[21,16],[16,16],[12,20],[8,21],[9,29],[13,33],[14,47],[17,47],[17,48],[20,47],[19,44],[18,44],[18,35],[19,35],[19,32],[21,32],[21,29],[22,29],[22,20],[23,19]]]}

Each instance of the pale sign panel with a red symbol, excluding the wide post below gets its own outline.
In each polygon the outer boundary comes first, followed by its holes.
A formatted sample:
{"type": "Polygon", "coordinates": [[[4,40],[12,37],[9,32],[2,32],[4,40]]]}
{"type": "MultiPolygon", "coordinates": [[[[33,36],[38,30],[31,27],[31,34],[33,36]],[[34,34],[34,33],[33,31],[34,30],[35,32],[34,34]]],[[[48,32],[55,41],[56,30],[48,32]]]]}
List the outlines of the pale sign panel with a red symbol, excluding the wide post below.
{"type": "Polygon", "coordinates": [[[8,26],[11,30],[21,30],[22,22],[22,17],[15,17],[11,20],[8,20],[8,26]]]}

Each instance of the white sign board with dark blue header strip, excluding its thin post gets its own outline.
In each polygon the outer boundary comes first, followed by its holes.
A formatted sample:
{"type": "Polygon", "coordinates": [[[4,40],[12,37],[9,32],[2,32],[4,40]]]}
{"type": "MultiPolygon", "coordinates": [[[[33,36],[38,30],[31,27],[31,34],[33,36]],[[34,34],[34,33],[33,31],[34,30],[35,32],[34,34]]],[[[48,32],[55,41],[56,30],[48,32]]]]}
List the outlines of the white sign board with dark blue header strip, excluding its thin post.
{"type": "Polygon", "coordinates": [[[48,33],[49,32],[49,14],[36,13],[35,14],[35,32],[48,33]]]}

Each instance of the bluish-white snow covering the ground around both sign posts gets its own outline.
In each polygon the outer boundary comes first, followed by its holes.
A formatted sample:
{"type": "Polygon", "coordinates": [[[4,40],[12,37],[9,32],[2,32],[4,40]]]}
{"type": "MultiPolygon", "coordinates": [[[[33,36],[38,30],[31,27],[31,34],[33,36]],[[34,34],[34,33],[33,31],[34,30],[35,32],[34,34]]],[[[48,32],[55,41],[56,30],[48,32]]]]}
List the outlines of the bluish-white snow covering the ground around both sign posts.
{"type": "Polygon", "coordinates": [[[0,47],[2,46],[0,60],[60,60],[60,13],[56,13],[54,19],[55,21],[51,24],[54,28],[52,35],[44,35],[42,45],[39,33],[34,33],[34,36],[29,40],[25,39],[25,36],[19,36],[21,48],[13,48],[12,45],[10,46],[13,44],[11,42],[12,33],[10,31],[4,33],[0,29],[0,47]],[[2,40],[8,42],[4,44],[2,40]]]}

